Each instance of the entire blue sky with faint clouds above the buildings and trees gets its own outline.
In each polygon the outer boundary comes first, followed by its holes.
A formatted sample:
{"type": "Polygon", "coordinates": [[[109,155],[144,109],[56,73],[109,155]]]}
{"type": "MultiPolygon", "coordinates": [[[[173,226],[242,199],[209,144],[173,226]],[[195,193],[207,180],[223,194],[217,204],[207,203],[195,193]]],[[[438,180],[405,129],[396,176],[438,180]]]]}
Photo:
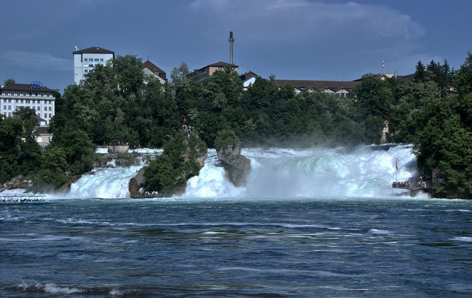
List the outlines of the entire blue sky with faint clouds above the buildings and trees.
{"type": "Polygon", "coordinates": [[[470,0],[19,0],[2,3],[0,83],[74,81],[74,47],[136,55],[163,69],[229,62],[278,79],[407,75],[418,60],[458,69],[472,51],[470,0]]]}

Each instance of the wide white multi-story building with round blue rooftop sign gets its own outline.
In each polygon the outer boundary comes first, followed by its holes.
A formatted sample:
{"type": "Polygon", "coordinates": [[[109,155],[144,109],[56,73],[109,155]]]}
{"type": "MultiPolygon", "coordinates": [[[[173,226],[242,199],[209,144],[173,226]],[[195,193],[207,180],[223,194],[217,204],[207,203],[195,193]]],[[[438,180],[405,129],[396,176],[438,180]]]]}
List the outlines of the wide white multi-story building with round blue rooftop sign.
{"type": "Polygon", "coordinates": [[[27,107],[36,111],[40,126],[48,126],[54,116],[56,90],[41,87],[38,84],[11,84],[0,88],[0,113],[10,117],[19,107],[27,107]]]}

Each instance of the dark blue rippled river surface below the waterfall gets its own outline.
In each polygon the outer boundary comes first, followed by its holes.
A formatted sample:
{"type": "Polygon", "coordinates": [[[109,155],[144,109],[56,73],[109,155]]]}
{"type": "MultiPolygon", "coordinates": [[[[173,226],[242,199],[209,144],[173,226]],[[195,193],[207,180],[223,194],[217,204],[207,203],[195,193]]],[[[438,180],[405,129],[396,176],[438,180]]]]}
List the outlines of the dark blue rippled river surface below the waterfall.
{"type": "Polygon", "coordinates": [[[472,201],[0,206],[1,297],[468,296],[472,201]]]}

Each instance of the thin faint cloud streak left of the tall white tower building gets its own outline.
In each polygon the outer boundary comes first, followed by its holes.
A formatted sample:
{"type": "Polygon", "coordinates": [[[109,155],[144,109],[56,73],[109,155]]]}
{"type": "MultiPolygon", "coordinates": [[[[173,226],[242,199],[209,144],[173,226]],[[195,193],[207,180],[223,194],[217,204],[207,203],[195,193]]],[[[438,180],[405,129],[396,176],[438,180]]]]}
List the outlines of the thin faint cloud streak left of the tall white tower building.
{"type": "Polygon", "coordinates": [[[50,53],[0,51],[0,63],[21,68],[71,71],[74,61],[52,56],[50,53]]]}

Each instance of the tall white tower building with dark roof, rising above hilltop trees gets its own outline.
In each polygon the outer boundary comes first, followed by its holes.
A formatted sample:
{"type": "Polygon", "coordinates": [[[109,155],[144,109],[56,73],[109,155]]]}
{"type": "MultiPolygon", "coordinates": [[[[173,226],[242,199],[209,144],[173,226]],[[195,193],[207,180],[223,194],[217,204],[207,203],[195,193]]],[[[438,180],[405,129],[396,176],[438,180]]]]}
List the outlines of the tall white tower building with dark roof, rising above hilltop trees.
{"type": "Polygon", "coordinates": [[[108,60],[114,59],[113,51],[91,47],[88,49],[72,52],[74,54],[74,83],[78,84],[84,75],[93,71],[95,65],[105,64],[108,60]]]}

